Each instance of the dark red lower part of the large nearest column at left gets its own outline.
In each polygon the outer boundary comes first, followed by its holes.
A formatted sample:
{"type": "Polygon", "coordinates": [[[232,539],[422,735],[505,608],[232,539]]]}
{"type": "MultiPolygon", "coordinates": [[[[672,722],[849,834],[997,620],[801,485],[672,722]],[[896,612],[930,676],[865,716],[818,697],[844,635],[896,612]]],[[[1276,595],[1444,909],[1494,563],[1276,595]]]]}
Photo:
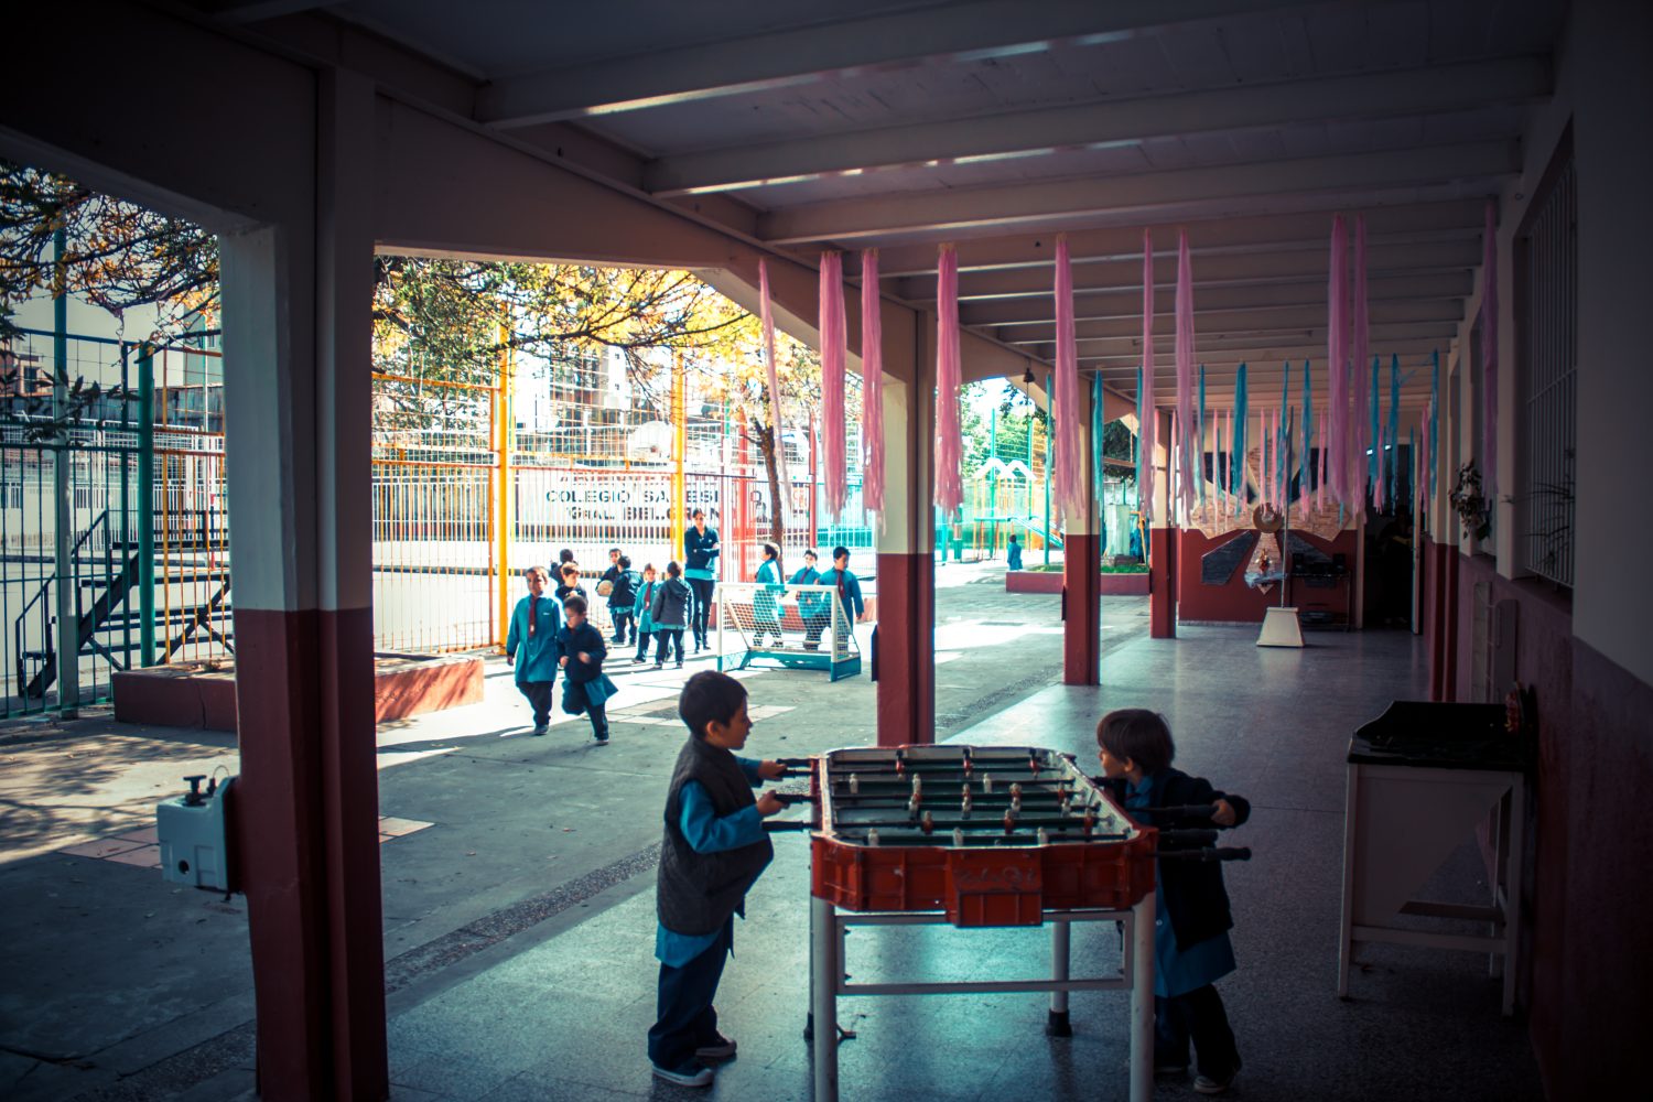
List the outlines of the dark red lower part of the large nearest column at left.
{"type": "Polygon", "coordinates": [[[372,610],[235,610],[263,1099],[388,1097],[372,610]]]}

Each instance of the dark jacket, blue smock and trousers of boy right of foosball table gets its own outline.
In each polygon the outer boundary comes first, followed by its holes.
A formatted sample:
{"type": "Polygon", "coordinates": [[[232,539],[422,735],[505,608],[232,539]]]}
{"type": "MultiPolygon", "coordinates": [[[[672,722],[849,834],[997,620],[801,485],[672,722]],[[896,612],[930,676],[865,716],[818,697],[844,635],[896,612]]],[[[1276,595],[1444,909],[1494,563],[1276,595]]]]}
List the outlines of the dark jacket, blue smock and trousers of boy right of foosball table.
{"type": "MultiPolygon", "coordinates": [[[[1164,768],[1136,785],[1111,781],[1124,796],[1126,810],[1207,805],[1227,800],[1235,810],[1235,826],[1251,818],[1243,796],[1217,791],[1200,777],[1164,768]]],[[[1154,826],[1213,829],[1208,818],[1144,816],[1154,826]]],[[[1217,828],[1220,829],[1220,828],[1217,828]]],[[[1170,849],[1174,844],[1162,846],[1170,849]]],[[[1198,1057],[1198,1072],[1218,1082],[1240,1071],[1223,1000],[1213,986],[1235,970],[1233,912],[1223,887],[1223,867],[1215,861],[1159,861],[1154,887],[1154,1064],[1187,1066],[1189,1043],[1198,1057]]]]}

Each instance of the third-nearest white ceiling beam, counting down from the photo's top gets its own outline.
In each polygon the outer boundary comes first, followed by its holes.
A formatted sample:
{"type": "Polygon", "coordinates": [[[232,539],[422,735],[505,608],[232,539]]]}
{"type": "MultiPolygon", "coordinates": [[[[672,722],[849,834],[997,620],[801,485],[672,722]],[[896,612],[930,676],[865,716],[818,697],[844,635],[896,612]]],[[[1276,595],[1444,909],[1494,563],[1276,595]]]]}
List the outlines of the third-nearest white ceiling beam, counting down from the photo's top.
{"type": "Polygon", "coordinates": [[[1098,211],[1152,211],[1253,197],[1317,192],[1370,195],[1410,185],[1484,182],[1517,172],[1521,150],[1516,142],[1466,142],[805,203],[765,213],[757,231],[770,245],[861,241],[889,233],[946,235],[967,226],[1012,226],[1098,211]]]}

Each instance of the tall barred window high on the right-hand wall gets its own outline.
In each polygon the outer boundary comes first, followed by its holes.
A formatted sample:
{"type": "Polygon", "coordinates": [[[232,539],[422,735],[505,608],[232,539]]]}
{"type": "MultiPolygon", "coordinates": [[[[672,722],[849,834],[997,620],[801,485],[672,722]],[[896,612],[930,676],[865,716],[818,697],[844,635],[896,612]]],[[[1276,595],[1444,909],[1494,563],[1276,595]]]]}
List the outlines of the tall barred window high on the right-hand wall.
{"type": "Polygon", "coordinates": [[[1516,235],[1519,529],[1526,572],[1572,587],[1579,213],[1570,135],[1516,235]]]}

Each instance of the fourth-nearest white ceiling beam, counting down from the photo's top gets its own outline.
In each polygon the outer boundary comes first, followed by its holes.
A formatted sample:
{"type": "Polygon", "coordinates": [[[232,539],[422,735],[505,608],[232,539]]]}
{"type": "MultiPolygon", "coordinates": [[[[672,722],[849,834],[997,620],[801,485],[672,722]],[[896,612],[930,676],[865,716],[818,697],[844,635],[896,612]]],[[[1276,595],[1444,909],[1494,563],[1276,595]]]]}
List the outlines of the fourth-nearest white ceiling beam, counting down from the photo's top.
{"type": "MultiPolygon", "coordinates": [[[[1365,215],[1367,241],[1417,243],[1453,236],[1479,240],[1484,200],[1461,198],[1441,203],[1412,203],[1400,207],[1374,207],[1365,215]]],[[[1218,253],[1256,253],[1263,249],[1326,248],[1332,220],[1324,211],[1291,215],[1256,215],[1248,218],[1207,218],[1184,221],[1189,231],[1189,248],[1195,259],[1218,253]]],[[[1069,230],[1068,254],[1074,266],[1142,258],[1142,231],[1154,235],[1154,254],[1177,254],[1179,223],[1160,221],[1134,226],[1108,226],[1099,230],[1069,230]]],[[[903,276],[934,276],[936,245],[886,245],[878,249],[878,273],[883,279],[903,276]]],[[[1056,235],[1018,233],[1005,238],[977,238],[959,241],[959,271],[985,271],[988,268],[1050,268],[1056,253],[1056,235]]],[[[800,249],[803,251],[803,249],[800,249]]],[[[845,256],[845,269],[860,274],[860,253],[845,256]]]]}

